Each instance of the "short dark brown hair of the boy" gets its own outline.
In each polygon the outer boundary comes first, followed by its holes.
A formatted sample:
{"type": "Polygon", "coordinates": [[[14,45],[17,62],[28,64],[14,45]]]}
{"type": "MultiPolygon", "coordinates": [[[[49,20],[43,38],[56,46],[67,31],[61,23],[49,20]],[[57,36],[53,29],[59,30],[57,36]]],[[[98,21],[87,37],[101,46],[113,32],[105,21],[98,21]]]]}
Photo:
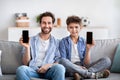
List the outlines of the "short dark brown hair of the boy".
{"type": "Polygon", "coordinates": [[[66,20],[66,24],[69,25],[70,23],[82,24],[81,19],[78,16],[69,16],[66,20]]]}

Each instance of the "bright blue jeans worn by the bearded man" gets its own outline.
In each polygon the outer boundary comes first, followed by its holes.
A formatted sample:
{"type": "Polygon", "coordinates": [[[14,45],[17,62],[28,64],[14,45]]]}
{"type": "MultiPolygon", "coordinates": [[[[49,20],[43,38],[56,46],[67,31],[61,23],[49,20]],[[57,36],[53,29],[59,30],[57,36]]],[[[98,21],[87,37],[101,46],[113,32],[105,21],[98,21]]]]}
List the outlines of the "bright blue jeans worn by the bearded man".
{"type": "Polygon", "coordinates": [[[65,80],[65,68],[61,64],[55,64],[45,74],[37,73],[29,66],[20,66],[16,70],[17,80],[30,80],[30,78],[45,78],[49,80],[65,80]]]}

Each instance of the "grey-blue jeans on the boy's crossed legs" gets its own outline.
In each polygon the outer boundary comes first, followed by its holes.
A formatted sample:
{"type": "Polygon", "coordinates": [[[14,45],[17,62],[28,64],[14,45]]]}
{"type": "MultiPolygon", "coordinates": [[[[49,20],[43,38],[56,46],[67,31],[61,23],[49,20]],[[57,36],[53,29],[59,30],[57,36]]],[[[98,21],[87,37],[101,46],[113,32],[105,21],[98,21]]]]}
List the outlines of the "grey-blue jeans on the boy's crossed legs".
{"type": "Polygon", "coordinates": [[[90,67],[86,69],[80,67],[80,65],[72,63],[71,61],[65,58],[61,58],[59,60],[59,63],[66,68],[66,72],[72,74],[79,73],[84,78],[90,78],[92,76],[92,73],[96,73],[109,68],[111,65],[111,60],[108,57],[101,58],[98,61],[94,62],[94,64],[91,64],[90,67]]]}

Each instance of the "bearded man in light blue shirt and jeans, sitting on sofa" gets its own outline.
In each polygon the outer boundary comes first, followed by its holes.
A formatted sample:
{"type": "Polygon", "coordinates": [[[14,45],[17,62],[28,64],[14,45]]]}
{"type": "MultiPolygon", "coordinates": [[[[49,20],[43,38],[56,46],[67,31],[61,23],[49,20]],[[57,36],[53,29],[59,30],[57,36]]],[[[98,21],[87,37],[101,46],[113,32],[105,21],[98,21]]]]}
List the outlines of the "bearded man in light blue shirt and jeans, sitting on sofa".
{"type": "Polygon", "coordinates": [[[51,12],[42,13],[39,16],[41,32],[31,37],[29,43],[23,43],[23,39],[20,39],[20,44],[25,48],[22,59],[24,65],[16,71],[17,80],[30,80],[31,77],[65,79],[65,68],[57,64],[60,56],[59,41],[50,34],[54,22],[55,18],[51,12]]]}

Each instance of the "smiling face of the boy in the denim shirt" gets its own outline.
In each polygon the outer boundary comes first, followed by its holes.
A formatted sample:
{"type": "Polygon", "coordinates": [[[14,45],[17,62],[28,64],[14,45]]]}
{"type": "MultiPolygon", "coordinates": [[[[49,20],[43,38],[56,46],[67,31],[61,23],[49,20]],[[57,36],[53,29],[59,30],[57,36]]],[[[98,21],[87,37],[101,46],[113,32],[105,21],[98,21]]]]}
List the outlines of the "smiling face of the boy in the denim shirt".
{"type": "Polygon", "coordinates": [[[82,29],[82,27],[80,26],[80,24],[78,23],[70,23],[67,26],[68,31],[70,32],[70,35],[73,37],[77,37],[79,36],[79,32],[82,29]]]}

